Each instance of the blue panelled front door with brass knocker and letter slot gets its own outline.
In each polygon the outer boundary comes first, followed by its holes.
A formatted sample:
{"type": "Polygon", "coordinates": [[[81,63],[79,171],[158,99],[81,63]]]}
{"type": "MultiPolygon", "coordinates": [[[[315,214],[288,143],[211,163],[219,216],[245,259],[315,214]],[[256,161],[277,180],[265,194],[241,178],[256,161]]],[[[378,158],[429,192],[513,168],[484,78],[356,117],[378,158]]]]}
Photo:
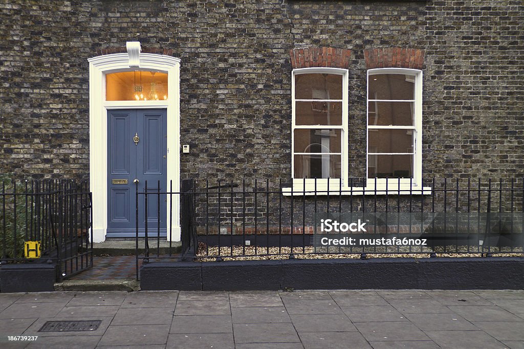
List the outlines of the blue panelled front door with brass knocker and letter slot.
{"type": "MultiPolygon", "coordinates": [[[[107,237],[135,237],[138,192],[166,192],[166,109],[107,111],[107,237]],[[137,184],[135,184],[137,182],[137,184]]],[[[138,198],[139,235],[145,231],[145,198],[138,198]]],[[[166,236],[166,195],[147,196],[148,235],[166,236]]]]}

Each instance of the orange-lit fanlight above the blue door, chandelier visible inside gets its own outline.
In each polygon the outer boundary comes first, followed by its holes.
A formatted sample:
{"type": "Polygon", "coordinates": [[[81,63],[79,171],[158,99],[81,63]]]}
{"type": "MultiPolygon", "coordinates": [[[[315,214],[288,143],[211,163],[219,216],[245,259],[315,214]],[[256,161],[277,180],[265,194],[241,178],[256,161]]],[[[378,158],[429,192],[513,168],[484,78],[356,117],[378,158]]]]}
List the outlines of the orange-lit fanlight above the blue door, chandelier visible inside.
{"type": "Polygon", "coordinates": [[[167,74],[160,72],[121,72],[105,77],[106,100],[167,99],[167,74]]]}

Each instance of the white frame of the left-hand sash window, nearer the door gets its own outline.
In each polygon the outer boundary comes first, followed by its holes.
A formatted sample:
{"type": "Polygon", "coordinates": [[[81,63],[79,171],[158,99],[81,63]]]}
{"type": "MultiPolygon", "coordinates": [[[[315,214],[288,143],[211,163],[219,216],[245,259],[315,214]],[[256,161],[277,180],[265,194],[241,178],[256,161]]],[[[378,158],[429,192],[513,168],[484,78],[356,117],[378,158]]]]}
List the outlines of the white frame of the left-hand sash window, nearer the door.
{"type": "MultiPolygon", "coordinates": [[[[348,175],[348,161],[347,161],[347,108],[348,108],[348,70],[340,68],[326,68],[326,67],[312,67],[312,68],[301,68],[294,69],[291,72],[291,178],[292,178],[292,188],[284,188],[284,195],[303,195],[304,192],[307,192],[306,195],[312,194],[311,192],[315,190],[334,190],[339,192],[340,185],[344,186],[344,183],[347,183],[348,175]],[[296,99],[295,98],[295,76],[300,74],[335,74],[342,75],[342,100],[340,99],[315,99],[315,102],[342,102],[342,125],[340,126],[316,126],[316,125],[296,125],[296,102],[311,102],[311,100],[305,99],[296,99]],[[328,130],[341,130],[341,177],[340,178],[294,178],[294,131],[299,129],[328,129],[328,130]],[[305,187],[304,187],[305,184],[305,187]]],[[[302,153],[297,153],[302,154],[302,153]]],[[[336,155],[335,153],[331,153],[336,155]]],[[[319,194],[319,193],[317,193],[319,194]]]]}

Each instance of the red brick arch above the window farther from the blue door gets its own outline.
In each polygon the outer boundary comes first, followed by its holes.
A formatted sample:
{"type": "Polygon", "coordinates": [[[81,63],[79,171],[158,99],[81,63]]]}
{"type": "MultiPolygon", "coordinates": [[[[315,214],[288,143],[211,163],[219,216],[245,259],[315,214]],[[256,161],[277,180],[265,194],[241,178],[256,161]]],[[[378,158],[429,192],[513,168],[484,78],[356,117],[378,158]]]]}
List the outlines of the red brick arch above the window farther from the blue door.
{"type": "Polygon", "coordinates": [[[364,50],[367,69],[410,68],[422,69],[424,50],[390,47],[364,50]]]}

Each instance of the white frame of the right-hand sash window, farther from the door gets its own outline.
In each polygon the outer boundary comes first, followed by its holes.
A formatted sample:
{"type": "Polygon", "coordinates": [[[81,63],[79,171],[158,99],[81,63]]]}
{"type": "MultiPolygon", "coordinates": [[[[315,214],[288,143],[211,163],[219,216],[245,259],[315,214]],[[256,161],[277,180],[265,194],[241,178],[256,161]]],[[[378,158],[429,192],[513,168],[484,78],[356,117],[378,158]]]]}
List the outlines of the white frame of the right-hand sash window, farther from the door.
{"type": "MultiPolygon", "coordinates": [[[[422,185],[422,71],[418,69],[405,69],[405,68],[378,68],[369,69],[367,71],[367,91],[366,91],[366,190],[391,190],[393,193],[399,192],[399,190],[416,189],[420,191],[422,185]],[[377,74],[399,74],[399,75],[411,75],[414,77],[414,96],[413,99],[400,100],[400,99],[370,99],[369,98],[369,79],[373,75],[377,74]],[[369,124],[369,103],[370,102],[412,102],[414,104],[413,110],[413,126],[376,126],[369,124]],[[369,131],[379,129],[406,129],[412,130],[413,135],[413,170],[411,178],[369,178],[368,167],[370,155],[399,155],[408,153],[370,153],[369,152],[369,131]]],[[[429,188],[424,188],[429,189],[429,188]]],[[[391,193],[391,194],[393,194],[391,193]]],[[[425,193],[424,193],[425,194],[425,193]]]]}

